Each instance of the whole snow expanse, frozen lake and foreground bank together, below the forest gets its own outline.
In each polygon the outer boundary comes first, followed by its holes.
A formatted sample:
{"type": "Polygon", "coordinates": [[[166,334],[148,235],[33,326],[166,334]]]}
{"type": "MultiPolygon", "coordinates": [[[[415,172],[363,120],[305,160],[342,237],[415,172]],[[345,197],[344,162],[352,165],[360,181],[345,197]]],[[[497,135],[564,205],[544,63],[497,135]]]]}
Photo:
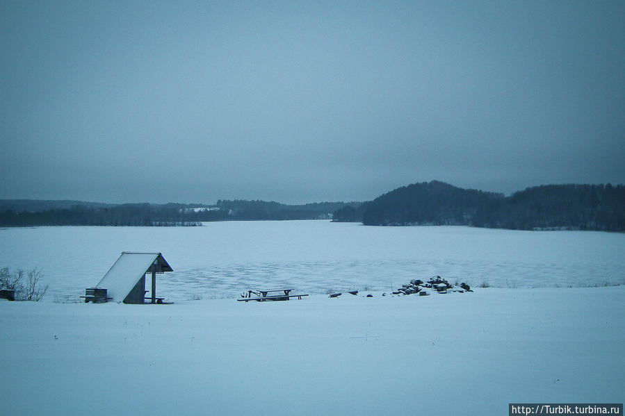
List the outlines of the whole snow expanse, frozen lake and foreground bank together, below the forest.
{"type": "Polygon", "coordinates": [[[0,301],[0,414],[505,415],[510,402],[622,403],[625,285],[611,285],[625,283],[624,254],[624,234],[319,221],[1,229],[0,267],[39,267],[50,293],[0,301]],[[174,272],[159,276],[159,296],[175,303],[59,303],[121,251],[161,251],[174,272]],[[382,297],[433,274],[475,292],[382,297]],[[285,285],[311,296],[232,299],[285,285]],[[325,295],[346,289],[361,292],[325,295]]]}

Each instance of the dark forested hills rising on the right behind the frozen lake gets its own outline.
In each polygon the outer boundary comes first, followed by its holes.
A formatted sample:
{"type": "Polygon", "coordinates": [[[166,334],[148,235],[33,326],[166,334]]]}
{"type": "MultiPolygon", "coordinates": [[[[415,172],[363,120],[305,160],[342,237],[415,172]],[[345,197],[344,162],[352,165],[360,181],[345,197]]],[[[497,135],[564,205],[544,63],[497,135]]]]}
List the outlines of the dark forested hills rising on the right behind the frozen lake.
{"type": "Polygon", "coordinates": [[[541,185],[505,197],[439,181],[414,183],[359,208],[341,208],[334,221],[625,231],[625,186],[541,185]]]}

